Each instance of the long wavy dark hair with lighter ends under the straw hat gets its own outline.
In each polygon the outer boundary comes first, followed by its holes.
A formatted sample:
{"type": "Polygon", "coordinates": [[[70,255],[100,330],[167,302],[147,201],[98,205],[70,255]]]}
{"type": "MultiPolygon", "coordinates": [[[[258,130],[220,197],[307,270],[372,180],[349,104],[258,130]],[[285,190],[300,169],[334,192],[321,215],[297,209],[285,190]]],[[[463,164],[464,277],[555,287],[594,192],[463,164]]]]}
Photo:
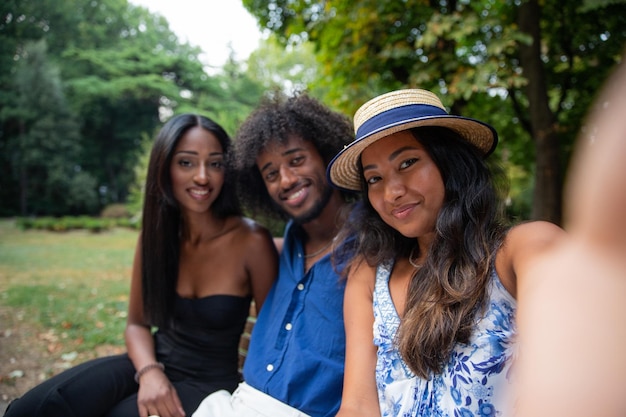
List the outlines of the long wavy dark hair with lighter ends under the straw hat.
{"type": "MultiPolygon", "coordinates": [[[[420,127],[411,132],[439,168],[445,187],[436,237],[425,264],[409,283],[396,340],[413,372],[427,378],[430,372],[441,372],[456,343],[469,341],[506,229],[490,168],[478,150],[449,129],[420,127]]],[[[364,181],[362,191],[367,196],[364,181]]],[[[369,265],[418,250],[415,239],[384,223],[367,198],[347,230],[356,235],[357,253],[369,265]]]]}

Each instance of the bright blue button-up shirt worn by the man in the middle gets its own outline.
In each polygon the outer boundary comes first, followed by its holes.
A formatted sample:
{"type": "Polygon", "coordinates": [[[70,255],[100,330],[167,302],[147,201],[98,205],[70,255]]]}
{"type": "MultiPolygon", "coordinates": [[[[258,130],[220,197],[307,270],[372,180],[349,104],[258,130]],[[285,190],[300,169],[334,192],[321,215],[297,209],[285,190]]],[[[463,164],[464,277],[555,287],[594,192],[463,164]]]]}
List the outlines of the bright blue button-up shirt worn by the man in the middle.
{"type": "Polygon", "coordinates": [[[243,375],[304,413],[334,416],[343,387],[345,280],[330,255],[304,274],[299,233],[298,225],[287,224],[278,279],[254,325],[243,375]]]}

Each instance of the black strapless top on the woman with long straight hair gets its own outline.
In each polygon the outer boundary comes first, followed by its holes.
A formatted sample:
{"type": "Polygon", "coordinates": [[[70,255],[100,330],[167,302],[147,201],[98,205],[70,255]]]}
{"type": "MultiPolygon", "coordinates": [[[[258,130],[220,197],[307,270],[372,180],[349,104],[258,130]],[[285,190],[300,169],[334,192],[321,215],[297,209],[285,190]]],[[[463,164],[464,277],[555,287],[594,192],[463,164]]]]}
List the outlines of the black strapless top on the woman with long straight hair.
{"type": "Polygon", "coordinates": [[[168,376],[196,379],[210,385],[211,392],[232,391],[239,382],[239,338],[250,301],[250,296],[177,296],[170,325],[154,335],[157,359],[165,364],[168,376]]]}

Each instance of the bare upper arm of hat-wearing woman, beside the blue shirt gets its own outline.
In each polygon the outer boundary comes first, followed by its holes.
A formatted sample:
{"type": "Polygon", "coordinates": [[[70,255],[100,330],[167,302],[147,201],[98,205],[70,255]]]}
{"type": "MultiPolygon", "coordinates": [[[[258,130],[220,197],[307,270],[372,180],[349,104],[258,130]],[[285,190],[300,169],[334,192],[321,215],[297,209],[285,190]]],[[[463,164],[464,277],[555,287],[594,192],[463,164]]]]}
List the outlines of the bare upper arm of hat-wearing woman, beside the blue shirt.
{"type": "Polygon", "coordinates": [[[373,335],[375,269],[366,262],[354,265],[344,297],[346,366],[337,417],[380,417],[373,335]]]}

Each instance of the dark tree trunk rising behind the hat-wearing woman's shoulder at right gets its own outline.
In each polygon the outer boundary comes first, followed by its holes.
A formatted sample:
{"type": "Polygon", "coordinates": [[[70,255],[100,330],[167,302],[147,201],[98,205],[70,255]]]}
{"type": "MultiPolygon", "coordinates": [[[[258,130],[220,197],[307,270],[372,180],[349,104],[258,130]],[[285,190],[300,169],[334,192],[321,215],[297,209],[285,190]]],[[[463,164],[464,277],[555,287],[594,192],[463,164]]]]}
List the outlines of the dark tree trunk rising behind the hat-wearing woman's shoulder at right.
{"type": "Polygon", "coordinates": [[[535,140],[535,190],[532,217],[536,220],[561,222],[562,179],[559,140],[554,113],[548,102],[547,83],[541,61],[541,9],[537,0],[523,2],[519,8],[520,30],[533,39],[531,45],[520,44],[520,64],[528,79],[528,97],[532,137],[535,140]]]}

